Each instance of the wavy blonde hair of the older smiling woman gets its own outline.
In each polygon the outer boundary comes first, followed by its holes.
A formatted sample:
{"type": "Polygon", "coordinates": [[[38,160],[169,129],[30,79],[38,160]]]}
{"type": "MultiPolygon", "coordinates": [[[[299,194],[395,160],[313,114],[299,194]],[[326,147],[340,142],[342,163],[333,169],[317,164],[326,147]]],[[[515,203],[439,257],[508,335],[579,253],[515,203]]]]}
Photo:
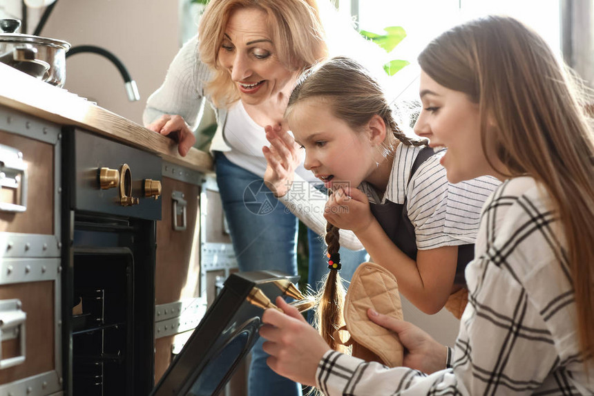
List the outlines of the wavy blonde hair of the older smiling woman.
{"type": "Polygon", "coordinates": [[[234,10],[258,8],[268,17],[278,59],[288,70],[303,70],[327,57],[325,32],[315,0],[211,0],[200,18],[200,61],[214,70],[207,93],[215,106],[239,100],[231,75],[218,61],[224,29],[234,10]]]}

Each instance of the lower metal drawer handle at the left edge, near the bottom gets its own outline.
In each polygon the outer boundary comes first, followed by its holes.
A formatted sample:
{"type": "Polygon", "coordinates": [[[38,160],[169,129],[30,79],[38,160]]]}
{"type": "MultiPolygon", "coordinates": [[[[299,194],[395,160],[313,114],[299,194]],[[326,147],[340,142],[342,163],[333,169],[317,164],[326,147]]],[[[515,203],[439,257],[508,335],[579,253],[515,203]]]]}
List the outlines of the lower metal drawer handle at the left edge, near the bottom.
{"type": "Polygon", "coordinates": [[[17,366],[25,361],[25,323],[27,314],[21,310],[21,301],[17,299],[0,301],[0,370],[17,366]],[[2,344],[5,339],[19,337],[21,355],[2,359],[2,344]]]}

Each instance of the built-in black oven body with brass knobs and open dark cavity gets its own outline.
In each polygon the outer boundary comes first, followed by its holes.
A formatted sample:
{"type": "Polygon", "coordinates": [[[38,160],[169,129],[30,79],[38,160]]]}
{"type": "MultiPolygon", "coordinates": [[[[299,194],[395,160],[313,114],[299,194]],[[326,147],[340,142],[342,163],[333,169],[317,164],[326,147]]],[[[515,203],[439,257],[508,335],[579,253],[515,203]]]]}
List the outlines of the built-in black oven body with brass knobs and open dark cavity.
{"type": "Polygon", "coordinates": [[[79,129],[63,153],[64,390],[148,395],[161,159],[79,129]]]}

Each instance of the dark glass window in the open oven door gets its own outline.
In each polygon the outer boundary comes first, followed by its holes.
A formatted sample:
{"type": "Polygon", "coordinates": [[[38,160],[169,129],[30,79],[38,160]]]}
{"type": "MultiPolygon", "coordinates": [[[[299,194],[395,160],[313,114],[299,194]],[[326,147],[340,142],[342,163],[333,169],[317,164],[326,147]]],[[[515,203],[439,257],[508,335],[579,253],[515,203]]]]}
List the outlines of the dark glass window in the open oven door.
{"type": "Polygon", "coordinates": [[[211,396],[217,394],[236,364],[245,356],[257,339],[259,319],[249,321],[231,337],[200,373],[186,396],[211,396]]]}

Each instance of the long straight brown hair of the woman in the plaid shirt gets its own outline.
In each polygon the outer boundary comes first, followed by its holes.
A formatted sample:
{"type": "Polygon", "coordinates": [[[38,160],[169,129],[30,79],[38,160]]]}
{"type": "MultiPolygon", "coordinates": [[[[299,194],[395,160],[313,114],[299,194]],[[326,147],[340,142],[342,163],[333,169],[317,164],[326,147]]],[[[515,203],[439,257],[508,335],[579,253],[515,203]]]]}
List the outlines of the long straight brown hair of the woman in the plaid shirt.
{"type": "Polygon", "coordinates": [[[567,241],[579,341],[593,352],[594,137],[572,76],[539,35],[509,17],[443,33],[419,64],[435,82],[479,104],[483,152],[495,144],[507,176],[533,176],[553,198],[567,241]]]}

